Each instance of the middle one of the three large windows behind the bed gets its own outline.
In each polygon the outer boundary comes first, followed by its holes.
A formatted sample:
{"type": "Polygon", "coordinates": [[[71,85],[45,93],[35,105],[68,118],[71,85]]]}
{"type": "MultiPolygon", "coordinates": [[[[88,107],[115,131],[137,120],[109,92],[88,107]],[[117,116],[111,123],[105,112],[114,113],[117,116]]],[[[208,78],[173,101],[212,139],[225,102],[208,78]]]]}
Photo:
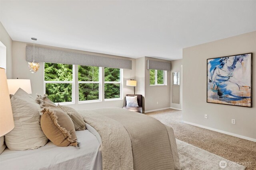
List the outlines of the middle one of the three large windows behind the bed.
{"type": "Polygon", "coordinates": [[[79,101],[100,100],[100,67],[78,66],[79,101]]]}

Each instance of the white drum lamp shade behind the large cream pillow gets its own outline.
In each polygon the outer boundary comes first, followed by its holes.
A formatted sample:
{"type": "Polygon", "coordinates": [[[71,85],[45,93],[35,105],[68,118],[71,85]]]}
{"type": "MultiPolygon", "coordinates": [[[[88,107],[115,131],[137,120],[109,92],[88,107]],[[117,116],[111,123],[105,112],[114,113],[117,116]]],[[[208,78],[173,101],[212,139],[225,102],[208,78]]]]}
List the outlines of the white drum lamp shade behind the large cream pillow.
{"type": "Polygon", "coordinates": [[[15,94],[19,88],[27,92],[28,94],[32,94],[31,84],[29,79],[8,79],[8,88],[10,94],[15,94]]]}

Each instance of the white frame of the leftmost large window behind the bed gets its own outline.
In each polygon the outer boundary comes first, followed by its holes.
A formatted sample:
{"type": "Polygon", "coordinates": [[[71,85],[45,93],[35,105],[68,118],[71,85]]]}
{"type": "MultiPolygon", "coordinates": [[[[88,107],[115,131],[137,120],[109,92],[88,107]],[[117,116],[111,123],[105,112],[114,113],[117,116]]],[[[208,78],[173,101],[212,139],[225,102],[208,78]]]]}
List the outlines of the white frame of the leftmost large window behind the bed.
{"type": "MultiPolygon", "coordinates": [[[[44,63],[47,63],[47,62],[44,62],[44,63]]],[[[69,64],[69,65],[72,65],[72,81],[46,81],[44,80],[44,94],[46,94],[46,84],[47,83],[55,83],[55,84],[62,84],[62,83],[66,83],[66,84],[72,84],[72,101],[71,102],[57,102],[55,103],[56,105],[58,104],[75,104],[75,101],[74,101],[74,72],[75,72],[75,68],[74,68],[74,64],[69,64]]],[[[45,72],[44,72],[45,73],[45,72]]]]}

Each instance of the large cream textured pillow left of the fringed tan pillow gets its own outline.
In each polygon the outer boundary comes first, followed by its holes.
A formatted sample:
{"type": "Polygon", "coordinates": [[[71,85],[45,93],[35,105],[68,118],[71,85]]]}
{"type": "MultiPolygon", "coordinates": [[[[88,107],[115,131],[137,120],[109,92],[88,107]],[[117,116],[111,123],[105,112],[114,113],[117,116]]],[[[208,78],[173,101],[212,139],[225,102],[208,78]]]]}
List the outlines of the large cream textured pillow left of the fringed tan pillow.
{"type": "Polygon", "coordinates": [[[40,126],[40,106],[34,98],[21,88],[12,96],[14,129],[5,135],[10,150],[36,149],[44,146],[48,139],[40,126]]]}

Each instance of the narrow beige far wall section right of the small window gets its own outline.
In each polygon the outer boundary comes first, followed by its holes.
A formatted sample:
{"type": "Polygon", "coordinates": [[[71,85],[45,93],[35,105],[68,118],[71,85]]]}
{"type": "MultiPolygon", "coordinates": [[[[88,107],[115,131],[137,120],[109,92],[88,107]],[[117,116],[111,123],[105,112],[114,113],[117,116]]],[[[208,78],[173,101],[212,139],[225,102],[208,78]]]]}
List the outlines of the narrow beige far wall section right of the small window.
{"type": "Polygon", "coordinates": [[[180,72],[180,104],[172,103],[172,97],[171,97],[171,107],[176,109],[182,109],[182,59],[180,60],[173,60],[171,61],[172,67],[170,72],[170,78],[171,78],[171,96],[172,96],[172,73],[173,72],[180,72]]]}

